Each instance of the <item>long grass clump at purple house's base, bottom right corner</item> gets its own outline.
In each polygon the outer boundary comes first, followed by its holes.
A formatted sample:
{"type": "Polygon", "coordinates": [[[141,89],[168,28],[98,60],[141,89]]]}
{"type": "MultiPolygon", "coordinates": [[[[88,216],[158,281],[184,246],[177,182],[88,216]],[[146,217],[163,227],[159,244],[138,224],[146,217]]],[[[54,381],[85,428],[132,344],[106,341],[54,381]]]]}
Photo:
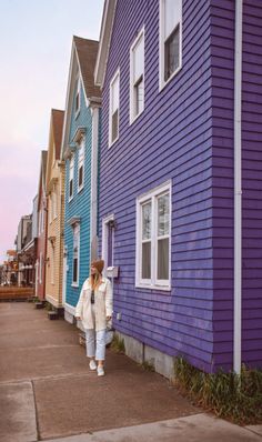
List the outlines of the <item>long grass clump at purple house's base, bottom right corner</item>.
{"type": "Polygon", "coordinates": [[[238,424],[262,423],[262,371],[204,373],[183,358],[174,362],[174,383],[196,405],[238,424]]]}

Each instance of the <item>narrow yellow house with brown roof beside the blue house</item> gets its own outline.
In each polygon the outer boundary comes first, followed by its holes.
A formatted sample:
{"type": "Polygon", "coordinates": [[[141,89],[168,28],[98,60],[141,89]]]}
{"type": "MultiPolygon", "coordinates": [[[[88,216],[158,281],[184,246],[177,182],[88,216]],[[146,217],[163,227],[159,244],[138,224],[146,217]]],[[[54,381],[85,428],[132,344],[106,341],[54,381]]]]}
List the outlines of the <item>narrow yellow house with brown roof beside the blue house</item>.
{"type": "Polygon", "coordinates": [[[64,163],[60,161],[63,115],[61,110],[51,111],[47,160],[46,300],[57,309],[62,308],[63,278],[64,163]]]}

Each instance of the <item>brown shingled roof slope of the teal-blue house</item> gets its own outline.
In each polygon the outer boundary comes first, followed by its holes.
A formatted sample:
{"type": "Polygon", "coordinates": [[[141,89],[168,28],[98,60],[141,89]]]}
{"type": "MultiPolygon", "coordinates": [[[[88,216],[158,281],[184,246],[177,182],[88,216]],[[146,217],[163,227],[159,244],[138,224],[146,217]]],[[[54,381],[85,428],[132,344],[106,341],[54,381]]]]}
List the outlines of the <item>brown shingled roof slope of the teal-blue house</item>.
{"type": "Polygon", "coordinates": [[[99,42],[73,36],[79,67],[87,98],[101,96],[100,88],[94,84],[93,70],[98,56],[99,42]]]}

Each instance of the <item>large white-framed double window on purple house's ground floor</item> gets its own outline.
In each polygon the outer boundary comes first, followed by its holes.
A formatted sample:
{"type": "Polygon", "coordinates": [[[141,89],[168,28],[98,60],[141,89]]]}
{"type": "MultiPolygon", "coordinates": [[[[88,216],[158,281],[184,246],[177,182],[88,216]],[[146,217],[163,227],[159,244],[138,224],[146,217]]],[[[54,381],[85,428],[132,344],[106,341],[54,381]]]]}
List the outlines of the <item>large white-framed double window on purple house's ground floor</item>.
{"type": "Polygon", "coordinates": [[[170,290],[171,184],[137,200],[137,285],[170,290]]]}

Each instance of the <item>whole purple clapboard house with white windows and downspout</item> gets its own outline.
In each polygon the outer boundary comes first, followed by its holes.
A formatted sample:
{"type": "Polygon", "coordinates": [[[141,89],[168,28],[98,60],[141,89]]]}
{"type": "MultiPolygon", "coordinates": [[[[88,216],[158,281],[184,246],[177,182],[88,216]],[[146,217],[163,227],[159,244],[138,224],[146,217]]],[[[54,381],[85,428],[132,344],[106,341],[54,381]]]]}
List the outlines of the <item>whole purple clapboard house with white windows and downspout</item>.
{"type": "Polygon", "coordinates": [[[127,353],[167,376],[262,365],[261,42],[260,0],[104,2],[101,253],[127,353]]]}

